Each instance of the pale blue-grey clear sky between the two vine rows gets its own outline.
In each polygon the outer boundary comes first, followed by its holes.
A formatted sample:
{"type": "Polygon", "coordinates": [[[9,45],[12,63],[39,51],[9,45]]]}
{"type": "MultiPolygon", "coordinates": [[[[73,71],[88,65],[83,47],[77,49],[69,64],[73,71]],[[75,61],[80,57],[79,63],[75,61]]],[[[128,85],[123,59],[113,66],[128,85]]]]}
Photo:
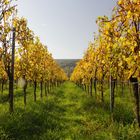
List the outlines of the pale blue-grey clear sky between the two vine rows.
{"type": "Polygon", "coordinates": [[[111,16],[115,0],[18,0],[18,16],[55,59],[81,59],[98,31],[98,16],[111,16]]]}

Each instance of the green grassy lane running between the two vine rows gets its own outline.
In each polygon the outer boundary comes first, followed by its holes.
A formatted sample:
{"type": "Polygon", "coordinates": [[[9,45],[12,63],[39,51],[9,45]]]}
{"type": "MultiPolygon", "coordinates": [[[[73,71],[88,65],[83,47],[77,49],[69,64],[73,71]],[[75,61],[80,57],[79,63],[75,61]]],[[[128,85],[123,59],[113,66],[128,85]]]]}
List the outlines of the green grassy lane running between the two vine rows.
{"type": "MultiPolygon", "coordinates": [[[[32,90],[28,90],[31,92],[32,90]]],[[[19,91],[22,93],[22,91],[19,91]]],[[[0,104],[0,140],[113,140],[139,139],[133,125],[110,121],[108,104],[89,97],[71,82],[65,82],[41,101],[28,94],[15,100],[15,113],[9,115],[7,104],[0,104]],[[5,108],[5,109],[4,109],[5,108]]],[[[127,121],[127,120],[126,120],[127,121]]]]}

